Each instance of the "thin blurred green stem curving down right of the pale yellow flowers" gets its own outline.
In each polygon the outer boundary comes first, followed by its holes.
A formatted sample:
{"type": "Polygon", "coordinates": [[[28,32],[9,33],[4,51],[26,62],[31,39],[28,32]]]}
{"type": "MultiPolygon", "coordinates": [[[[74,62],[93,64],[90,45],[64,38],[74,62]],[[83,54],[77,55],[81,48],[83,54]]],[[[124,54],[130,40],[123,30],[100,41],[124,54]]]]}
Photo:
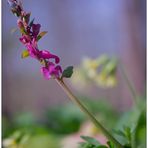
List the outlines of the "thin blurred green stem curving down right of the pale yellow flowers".
{"type": "Polygon", "coordinates": [[[138,95],[136,93],[136,90],[135,90],[134,86],[132,85],[131,81],[129,80],[128,75],[126,73],[126,70],[125,70],[123,64],[120,64],[120,65],[121,65],[120,68],[121,68],[122,75],[123,75],[123,77],[124,77],[124,79],[126,81],[126,84],[127,84],[128,88],[129,88],[131,94],[132,94],[133,101],[134,101],[135,104],[137,104],[138,103],[138,100],[137,100],[138,95]]]}

